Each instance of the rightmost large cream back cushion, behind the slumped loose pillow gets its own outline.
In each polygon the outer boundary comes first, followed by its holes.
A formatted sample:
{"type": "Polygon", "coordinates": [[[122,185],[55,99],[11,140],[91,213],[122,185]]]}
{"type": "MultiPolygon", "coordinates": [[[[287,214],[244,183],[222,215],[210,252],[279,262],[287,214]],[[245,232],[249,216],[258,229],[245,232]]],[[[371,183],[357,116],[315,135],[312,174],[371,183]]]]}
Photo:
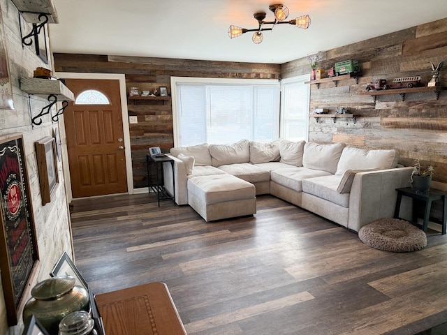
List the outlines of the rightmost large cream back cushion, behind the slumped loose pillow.
{"type": "Polygon", "coordinates": [[[342,175],[346,170],[391,169],[397,166],[399,154],[395,149],[367,150],[346,147],[337,165],[335,174],[342,175]]]}

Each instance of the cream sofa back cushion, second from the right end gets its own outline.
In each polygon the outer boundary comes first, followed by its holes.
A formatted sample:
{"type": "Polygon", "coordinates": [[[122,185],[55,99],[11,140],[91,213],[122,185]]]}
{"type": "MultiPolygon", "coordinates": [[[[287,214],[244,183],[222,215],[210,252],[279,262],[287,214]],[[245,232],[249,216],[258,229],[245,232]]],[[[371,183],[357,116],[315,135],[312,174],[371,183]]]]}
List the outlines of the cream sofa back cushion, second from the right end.
{"type": "Polygon", "coordinates": [[[306,143],[305,152],[302,156],[302,166],[335,174],[344,147],[346,147],[344,143],[306,143]]]}

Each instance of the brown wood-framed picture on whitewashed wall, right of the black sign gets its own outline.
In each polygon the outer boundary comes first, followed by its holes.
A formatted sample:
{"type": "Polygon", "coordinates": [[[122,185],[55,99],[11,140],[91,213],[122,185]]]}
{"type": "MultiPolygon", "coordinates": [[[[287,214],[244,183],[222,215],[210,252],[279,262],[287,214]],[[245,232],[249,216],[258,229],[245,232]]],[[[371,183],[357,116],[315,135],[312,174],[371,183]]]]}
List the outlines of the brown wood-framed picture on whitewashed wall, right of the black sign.
{"type": "Polygon", "coordinates": [[[42,205],[51,201],[51,194],[58,183],[56,147],[54,137],[43,137],[36,142],[37,168],[41,184],[42,205]]]}

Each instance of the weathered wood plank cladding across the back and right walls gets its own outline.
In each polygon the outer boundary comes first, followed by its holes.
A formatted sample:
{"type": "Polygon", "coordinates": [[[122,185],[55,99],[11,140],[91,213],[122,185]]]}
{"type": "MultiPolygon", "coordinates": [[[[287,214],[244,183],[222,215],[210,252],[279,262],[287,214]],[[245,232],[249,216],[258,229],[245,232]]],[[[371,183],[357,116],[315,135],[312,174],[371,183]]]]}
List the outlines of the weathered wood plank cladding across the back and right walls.
{"type": "MultiPolygon", "coordinates": [[[[393,80],[404,75],[422,75],[423,82],[431,77],[430,61],[438,63],[447,58],[447,18],[418,27],[397,31],[352,45],[323,52],[318,66],[330,68],[337,61],[360,61],[363,76],[358,84],[354,79],[323,83],[317,89],[311,85],[311,110],[328,108],[335,112],[347,107],[361,117],[351,119],[310,119],[309,140],[317,142],[347,142],[350,145],[377,149],[399,150],[404,165],[414,158],[434,165],[435,181],[447,183],[447,91],[439,100],[433,93],[379,96],[360,95],[375,79],[393,80]]],[[[119,57],[107,55],[54,54],[54,64],[61,72],[124,73],[127,87],[154,89],[168,87],[170,77],[225,77],[277,79],[310,72],[306,58],[286,64],[247,64],[220,61],[192,61],[119,57]]],[[[447,61],[440,80],[447,86],[447,61]]],[[[147,186],[145,154],[147,147],[159,146],[168,152],[173,146],[172,105],[167,101],[128,104],[129,115],[138,117],[130,124],[133,179],[135,188],[147,186]]]]}

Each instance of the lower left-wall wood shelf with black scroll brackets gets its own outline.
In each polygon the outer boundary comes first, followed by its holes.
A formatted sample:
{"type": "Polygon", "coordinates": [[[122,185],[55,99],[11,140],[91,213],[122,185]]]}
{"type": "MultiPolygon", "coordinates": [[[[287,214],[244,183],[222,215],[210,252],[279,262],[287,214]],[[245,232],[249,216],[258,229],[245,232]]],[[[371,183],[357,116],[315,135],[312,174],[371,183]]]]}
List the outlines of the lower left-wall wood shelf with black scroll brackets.
{"type": "Polygon", "coordinates": [[[52,121],[57,122],[59,115],[64,113],[68,106],[68,101],[74,101],[75,95],[68,89],[60,80],[50,80],[41,78],[20,78],[20,89],[27,92],[27,94],[46,98],[48,105],[42,108],[41,112],[33,117],[31,110],[31,122],[33,125],[42,123],[42,117],[50,113],[51,107],[62,101],[62,108],[57,110],[56,114],[52,115],[52,121]]]}

